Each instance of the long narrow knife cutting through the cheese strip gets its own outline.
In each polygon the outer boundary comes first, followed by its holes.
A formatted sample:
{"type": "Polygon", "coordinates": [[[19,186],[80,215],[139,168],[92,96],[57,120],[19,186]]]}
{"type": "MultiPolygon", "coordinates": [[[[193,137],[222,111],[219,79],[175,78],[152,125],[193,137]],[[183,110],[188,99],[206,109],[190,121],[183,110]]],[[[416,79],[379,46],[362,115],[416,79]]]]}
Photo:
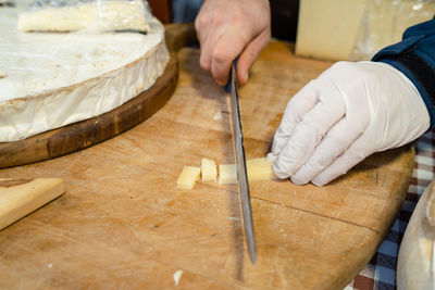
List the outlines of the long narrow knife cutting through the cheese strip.
{"type": "Polygon", "coordinates": [[[245,229],[245,239],[248,245],[249,257],[251,260],[251,263],[254,264],[257,261],[256,237],[253,235],[253,223],[252,223],[251,202],[249,196],[248,175],[246,173],[245,144],[244,144],[244,135],[241,133],[235,63],[232,64],[232,71],[229,77],[229,92],[231,92],[231,106],[232,106],[232,118],[233,118],[234,147],[236,149],[236,161],[237,161],[237,179],[238,179],[238,188],[240,191],[241,216],[245,229]]]}

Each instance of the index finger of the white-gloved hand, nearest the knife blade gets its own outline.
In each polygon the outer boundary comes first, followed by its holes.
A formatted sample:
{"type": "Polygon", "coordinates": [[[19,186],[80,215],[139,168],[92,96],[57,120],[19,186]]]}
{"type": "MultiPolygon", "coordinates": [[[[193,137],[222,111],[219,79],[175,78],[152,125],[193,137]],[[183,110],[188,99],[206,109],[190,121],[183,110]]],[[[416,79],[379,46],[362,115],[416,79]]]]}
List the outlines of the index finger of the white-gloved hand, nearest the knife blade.
{"type": "Polygon", "coordinates": [[[319,102],[315,81],[310,81],[296,93],[287,103],[283,119],[273,138],[272,153],[277,155],[283,150],[291,131],[302,116],[319,102]]]}

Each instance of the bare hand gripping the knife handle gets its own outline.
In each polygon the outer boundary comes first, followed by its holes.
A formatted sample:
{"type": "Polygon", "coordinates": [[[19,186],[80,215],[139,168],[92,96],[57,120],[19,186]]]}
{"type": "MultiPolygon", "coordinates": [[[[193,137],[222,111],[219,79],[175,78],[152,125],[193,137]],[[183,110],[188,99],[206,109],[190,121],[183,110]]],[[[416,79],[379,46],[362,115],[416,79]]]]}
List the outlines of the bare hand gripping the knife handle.
{"type": "Polygon", "coordinates": [[[225,85],[232,62],[237,63],[237,80],[248,81],[248,72],[271,38],[268,0],[206,0],[195,28],[201,46],[199,64],[225,85]]]}

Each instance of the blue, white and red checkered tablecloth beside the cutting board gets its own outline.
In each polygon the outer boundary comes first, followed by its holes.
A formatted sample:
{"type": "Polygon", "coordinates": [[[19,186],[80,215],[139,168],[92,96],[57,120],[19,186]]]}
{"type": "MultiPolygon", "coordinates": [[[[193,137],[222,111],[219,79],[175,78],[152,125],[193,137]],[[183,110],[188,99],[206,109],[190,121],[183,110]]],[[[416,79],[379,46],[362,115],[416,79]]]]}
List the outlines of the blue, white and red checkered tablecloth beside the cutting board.
{"type": "Polygon", "coordinates": [[[396,264],[409,218],[435,172],[435,134],[427,133],[415,142],[415,165],[407,196],[394,225],[364,269],[345,290],[396,289],[396,264]]]}

